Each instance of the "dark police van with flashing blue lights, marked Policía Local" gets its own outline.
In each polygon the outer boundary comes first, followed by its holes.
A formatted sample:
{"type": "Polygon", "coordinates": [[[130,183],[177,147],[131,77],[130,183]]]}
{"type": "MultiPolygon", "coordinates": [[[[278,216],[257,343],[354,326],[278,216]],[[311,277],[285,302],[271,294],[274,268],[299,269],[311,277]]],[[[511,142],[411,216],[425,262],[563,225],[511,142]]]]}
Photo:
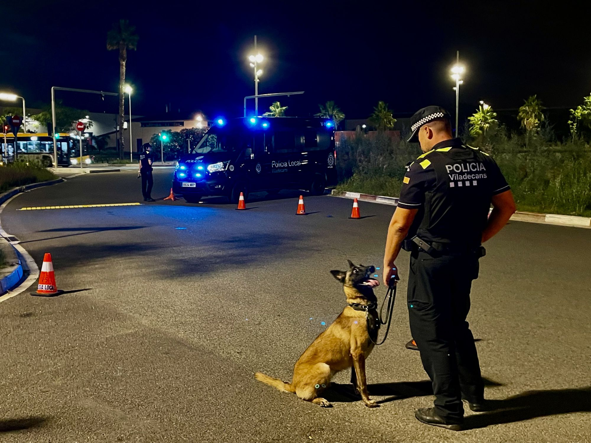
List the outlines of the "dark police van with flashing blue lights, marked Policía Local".
{"type": "Polygon", "coordinates": [[[302,189],[321,195],[336,184],[335,122],[324,118],[215,120],[176,166],[173,191],[189,203],[254,191],[302,189]]]}

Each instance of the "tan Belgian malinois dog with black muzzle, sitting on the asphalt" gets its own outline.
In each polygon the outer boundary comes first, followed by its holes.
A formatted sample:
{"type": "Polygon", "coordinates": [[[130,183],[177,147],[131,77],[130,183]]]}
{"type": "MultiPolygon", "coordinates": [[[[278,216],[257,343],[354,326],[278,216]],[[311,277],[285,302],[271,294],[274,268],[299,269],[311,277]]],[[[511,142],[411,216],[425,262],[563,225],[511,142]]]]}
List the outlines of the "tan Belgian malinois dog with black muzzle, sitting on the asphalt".
{"type": "Polygon", "coordinates": [[[379,406],[369,398],[365,379],[365,360],[374,348],[372,340],[378,337],[378,299],[373,288],[379,281],[371,278],[374,266],[355,266],[351,260],[348,262],[348,271],[330,271],[343,284],[348,306],[296,361],[291,383],[261,372],[255,373],[257,380],[326,408],[331,405],[319,393],[329,386],[333,375],[353,366],[351,381],[363,403],[368,408],[379,406]]]}

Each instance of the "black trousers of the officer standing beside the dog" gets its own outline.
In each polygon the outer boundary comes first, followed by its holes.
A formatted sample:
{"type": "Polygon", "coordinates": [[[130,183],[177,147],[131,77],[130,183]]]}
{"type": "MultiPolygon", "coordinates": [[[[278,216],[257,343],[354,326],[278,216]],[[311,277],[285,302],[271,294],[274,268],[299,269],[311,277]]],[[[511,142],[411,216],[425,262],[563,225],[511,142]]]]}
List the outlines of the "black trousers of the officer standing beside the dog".
{"type": "Polygon", "coordinates": [[[450,422],[462,421],[462,398],[475,402],[484,396],[478,353],[466,321],[478,266],[472,253],[436,257],[411,253],[410,330],[433,382],[437,413],[450,422]]]}

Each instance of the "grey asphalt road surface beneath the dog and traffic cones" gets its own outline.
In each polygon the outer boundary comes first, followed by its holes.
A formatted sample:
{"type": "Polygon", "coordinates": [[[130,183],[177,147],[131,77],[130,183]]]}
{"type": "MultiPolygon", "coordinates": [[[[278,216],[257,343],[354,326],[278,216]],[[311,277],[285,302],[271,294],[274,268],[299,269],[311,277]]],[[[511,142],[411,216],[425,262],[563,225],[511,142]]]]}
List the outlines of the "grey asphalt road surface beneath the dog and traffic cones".
{"type": "MultiPolygon", "coordinates": [[[[165,197],[170,169],[155,172],[165,197]]],[[[394,208],[298,192],[140,206],[132,171],[83,174],[21,194],[2,227],[40,266],[51,252],[55,298],[0,304],[0,439],[14,442],[589,442],[591,231],[514,222],[487,243],[469,321],[497,412],[473,429],[420,424],[432,396],[410,337],[408,255],[398,260],[390,338],[367,363],[368,409],[335,386],[319,408],[256,382],[282,379],[345,306],[331,269],[380,266],[394,208]],[[256,197],[256,196],[253,196],[256,197]],[[326,323],[323,325],[322,322],[326,323]]],[[[380,271],[378,271],[380,272],[380,271]]],[[[384,296],[383,286],[377,289],[384,296]]],[[[345,384],[348,374],[335,382],[345,384]]]]}

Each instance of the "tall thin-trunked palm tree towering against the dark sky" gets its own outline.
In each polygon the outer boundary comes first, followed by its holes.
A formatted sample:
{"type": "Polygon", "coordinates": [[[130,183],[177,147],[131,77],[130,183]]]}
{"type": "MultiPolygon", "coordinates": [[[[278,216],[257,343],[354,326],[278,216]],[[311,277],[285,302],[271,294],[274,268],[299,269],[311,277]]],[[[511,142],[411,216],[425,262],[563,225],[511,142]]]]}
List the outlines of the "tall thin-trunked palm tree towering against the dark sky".
{"type": "Polygon", "coordinates": [[[135,26],[129,24],[129,20],[121,19],[113,23],[113,27],[107,32],[107,49],[119,50],[119,158],[123,158],[124,149],[124,87],[125,87],[125,63],[127,62],[127,50],[137,49],[139,36],[135,33],[135,26]]]}

